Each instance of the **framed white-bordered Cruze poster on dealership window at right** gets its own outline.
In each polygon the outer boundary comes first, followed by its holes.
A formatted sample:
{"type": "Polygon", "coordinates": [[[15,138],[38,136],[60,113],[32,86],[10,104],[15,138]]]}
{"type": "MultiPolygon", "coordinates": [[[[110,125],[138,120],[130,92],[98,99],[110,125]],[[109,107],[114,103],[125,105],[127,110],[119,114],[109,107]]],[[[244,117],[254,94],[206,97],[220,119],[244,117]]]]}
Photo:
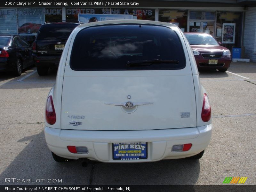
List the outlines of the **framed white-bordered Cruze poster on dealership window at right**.
{"type": "Polygon", "coordinates": [[[223,27],[222,27],[222,43],[223,44],[235,43],[235,30],[236,30],[236,23],[223,23],[223,27]]]}

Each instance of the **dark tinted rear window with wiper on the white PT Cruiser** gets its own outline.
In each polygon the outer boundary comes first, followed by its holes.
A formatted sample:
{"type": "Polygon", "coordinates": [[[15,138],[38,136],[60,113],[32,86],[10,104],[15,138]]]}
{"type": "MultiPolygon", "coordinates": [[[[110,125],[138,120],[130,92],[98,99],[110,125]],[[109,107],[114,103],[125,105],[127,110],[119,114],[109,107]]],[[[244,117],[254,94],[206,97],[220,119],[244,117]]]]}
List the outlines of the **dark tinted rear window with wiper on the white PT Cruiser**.
{"type": "Polygon", "coordinates": [[[177,34],[155,25],[105,25],[81,30],[74,40],[73,70],[182,69],[185,55],[177,34]]]}

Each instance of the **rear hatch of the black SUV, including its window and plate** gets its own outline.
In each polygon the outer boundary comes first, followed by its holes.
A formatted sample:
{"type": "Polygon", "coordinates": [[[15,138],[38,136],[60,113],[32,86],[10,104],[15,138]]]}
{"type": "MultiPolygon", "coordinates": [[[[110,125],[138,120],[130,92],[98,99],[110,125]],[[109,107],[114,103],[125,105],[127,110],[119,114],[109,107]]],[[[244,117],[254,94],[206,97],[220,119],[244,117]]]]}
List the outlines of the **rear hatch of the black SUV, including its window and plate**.
{"type": "Polygon", "coordinates": [[[69,35],[79,24],[50,23],[42,25],[36,38],[38,56],[60,56],[69,35]]]}

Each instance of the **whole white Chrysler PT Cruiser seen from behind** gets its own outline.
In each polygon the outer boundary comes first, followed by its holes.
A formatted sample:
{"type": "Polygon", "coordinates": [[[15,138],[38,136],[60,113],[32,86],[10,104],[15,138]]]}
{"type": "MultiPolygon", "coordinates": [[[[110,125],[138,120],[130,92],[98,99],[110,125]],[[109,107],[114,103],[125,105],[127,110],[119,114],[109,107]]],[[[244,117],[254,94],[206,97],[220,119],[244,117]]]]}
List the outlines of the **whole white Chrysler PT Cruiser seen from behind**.
{"type": "Polygon", "coordinates": [[[147,20],[98,21],[68,38],[45,109],[56,161],[199,159],[211,106],[182,31],[147,20]]]}

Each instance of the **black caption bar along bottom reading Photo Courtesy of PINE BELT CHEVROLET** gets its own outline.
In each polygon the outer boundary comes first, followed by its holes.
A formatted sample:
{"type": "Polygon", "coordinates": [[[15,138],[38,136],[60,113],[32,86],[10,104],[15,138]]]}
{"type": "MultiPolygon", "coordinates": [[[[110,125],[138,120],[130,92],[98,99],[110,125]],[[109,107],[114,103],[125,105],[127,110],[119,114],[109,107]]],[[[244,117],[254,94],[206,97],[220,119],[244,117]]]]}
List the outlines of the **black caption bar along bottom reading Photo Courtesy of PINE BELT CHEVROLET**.
{"type": "Polygon", "coordinates": [[[222,186],[216,186],[216,185],[206,185],[206,186],[190,186],[190,185],[179,185],[179,186],[37,186],[37,185],[9,185],[9,186],[0,186],[1,192],[86,192],[86,191],[102,191],[102,192],[148,192],[148,191],[154,191],[154,192],[254,192],[256,191],[255,185],[242,185],[242,184],[236,184],[236,185],[222,185],[222,186]]]}

